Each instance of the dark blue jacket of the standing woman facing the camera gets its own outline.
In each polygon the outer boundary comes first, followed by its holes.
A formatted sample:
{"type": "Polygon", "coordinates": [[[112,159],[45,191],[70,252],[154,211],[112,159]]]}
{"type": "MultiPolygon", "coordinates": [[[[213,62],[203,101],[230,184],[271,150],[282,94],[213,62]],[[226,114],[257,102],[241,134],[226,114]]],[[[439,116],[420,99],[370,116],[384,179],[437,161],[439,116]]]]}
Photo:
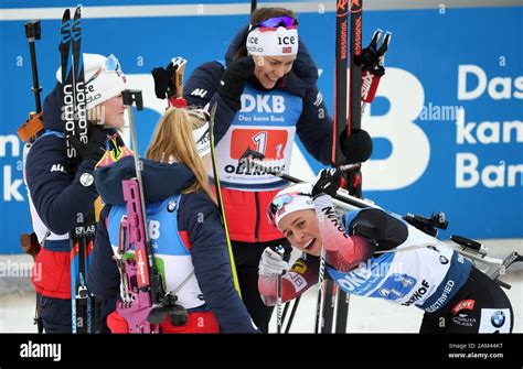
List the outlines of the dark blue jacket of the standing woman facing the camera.
{"type": "MultiPolygon", "coordinates": [[[[234,54],[245,45],[248,26],[242,28],[235,35],[225,54],[226,64],[233,62],[234,54]]],[[[220,62],[209,62],[199,66],[191,74],[184,86],[184,98],[190,106],[204,107],[217,102],[214,137],[220,142],[231,127],[236,111],[231,109],[216,93],[224,66],[220,62]]],[[[307,151],[323,164],[331,164],[332,118],[329,116],[321,93],[318,90],[318,67],[308,48],[301,42],[298,58],[292,69],[276,88],[288,91],[303,100],[303,110],[296,126],[298,137],[307,151]],[[322,117],[322,118],[321,118],[322,117]]]]}

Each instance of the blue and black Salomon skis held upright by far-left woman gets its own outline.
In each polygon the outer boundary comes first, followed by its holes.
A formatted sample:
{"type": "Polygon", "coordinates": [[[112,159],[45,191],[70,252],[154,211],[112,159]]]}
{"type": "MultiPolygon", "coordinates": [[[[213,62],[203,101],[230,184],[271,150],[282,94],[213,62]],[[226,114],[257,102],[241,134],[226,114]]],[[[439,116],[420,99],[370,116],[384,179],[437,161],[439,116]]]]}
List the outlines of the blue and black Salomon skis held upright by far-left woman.
{"type": "MultiPolygon", "coordinates": [[[[86,91],[82,54],[82,6],[65,10],[61,26],[62,91],[64,96],[65,150],[67,174],[74,177],[78,164],[77,152],[70,142],[75,137],[88,142],[86,91]]],[[[71,302],[73,333],[100,330],[99,303],[87,290],[86,278],[90,252],[94,248],[96,223],[93,209],[77,214],[76,226],[70,231],[71,239],[71,302]]]]}

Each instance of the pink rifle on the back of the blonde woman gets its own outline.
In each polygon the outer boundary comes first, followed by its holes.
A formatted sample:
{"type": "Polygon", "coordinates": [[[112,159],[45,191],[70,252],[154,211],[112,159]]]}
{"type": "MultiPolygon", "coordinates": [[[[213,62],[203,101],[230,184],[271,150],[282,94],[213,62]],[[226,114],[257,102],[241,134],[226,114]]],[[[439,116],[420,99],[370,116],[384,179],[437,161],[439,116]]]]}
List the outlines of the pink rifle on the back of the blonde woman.
{"type": "Polygon", "coordinates": [[[158,272],[154,253],[149,237],[146,203],[143,197],[142,164],[138,154],[137,134],[132,106],[143,109],[141,90],[124,90],[135,149],[136,178],[122,181],[127,216],[120,223],[120,242],[115,257],[122,280],[122,299],[116,311],[129,325],[129,333],[159,333],[160,324],[169,314],[173,325],[183,325],[188,319],[186,310],[175,304],[177,296],[166,293],[162,275],[158,272]],[[126,258],[131,248],[135,258],[126,258]]]}

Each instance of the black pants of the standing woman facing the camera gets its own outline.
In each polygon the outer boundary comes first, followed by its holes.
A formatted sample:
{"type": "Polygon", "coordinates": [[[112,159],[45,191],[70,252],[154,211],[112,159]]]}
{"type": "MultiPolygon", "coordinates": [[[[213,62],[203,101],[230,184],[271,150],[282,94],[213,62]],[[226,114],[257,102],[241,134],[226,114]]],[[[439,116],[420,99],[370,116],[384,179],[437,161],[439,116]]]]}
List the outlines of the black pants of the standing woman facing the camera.
{"type": "Polygon", "coordinates": [[[265,248],[281,245],[287,248],[287,239],[270,242],[239,242],[232,241],[234,262],[238,274],[242,300],[250,317],[262,333],[268,333],[270,316],[274,306],[267,306],[258,292],[258,264],[265,248]]]}

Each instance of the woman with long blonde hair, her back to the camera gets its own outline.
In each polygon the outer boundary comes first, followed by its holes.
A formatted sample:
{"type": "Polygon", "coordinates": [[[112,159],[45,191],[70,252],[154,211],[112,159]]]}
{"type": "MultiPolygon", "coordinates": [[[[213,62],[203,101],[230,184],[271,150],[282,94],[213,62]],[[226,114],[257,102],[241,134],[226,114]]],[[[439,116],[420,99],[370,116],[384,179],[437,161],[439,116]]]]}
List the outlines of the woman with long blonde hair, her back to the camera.
{"type": "MultiPolygon", "coordinates": [[[[122,151],[124,152],[124,151],[122,151]]],[[[209,123],[202,111],[170,108],[158,123],[143,163],[143,192],[149,234],[166,291],[188,312],[186,323],[168,314],[160,333],[256,333],[235,290],[225,231],[209,185],[209,123]]],[[[120,296],[115,261],[119,228],[127,214],[121,181],[136,176],[132,155],[100,161],[96,187],[106,204],[100,214],[88,286],[102,299],[120,296]]],[[[117,305],[119,306],[119,305],[117,305]]],[[[107,324],[129,332],[118,308],[107,324]]]]}

